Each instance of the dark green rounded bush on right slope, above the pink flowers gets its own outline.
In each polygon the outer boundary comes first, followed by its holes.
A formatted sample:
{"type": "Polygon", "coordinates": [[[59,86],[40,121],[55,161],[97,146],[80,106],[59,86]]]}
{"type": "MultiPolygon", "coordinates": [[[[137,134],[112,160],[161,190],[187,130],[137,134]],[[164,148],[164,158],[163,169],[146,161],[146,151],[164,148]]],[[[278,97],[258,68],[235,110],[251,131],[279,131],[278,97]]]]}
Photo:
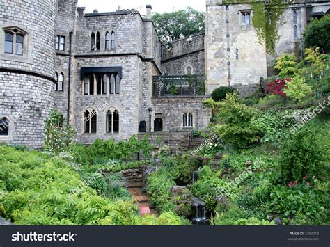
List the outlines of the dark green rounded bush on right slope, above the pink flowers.
{"type": "Polygon", "coordinates": [[[285,183],[302,181],[305,175],[319,176],[324,167],[323,147],[315,133],[302,129],[281,145],[278,163],[285,183]]]}

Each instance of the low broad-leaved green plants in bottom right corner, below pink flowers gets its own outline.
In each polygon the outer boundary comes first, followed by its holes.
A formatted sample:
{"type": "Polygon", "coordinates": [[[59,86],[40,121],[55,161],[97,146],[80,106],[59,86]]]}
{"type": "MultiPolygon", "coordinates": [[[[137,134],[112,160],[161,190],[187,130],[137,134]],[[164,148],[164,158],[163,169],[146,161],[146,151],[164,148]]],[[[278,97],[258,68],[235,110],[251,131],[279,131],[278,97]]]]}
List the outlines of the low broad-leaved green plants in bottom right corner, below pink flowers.
{"type": "Polygon", "coordinates": [[[315,189],[297,189],[275,186],[270,193],[270,200],[267,205],[269,213],[277,217],[288,218],[284,223],[297,222],[315,224],[322,223],[322,217],[325,214],[324,208],[325,194],[315,189]],[[301,217],[304,216],[304,217],[301,217]]]}

